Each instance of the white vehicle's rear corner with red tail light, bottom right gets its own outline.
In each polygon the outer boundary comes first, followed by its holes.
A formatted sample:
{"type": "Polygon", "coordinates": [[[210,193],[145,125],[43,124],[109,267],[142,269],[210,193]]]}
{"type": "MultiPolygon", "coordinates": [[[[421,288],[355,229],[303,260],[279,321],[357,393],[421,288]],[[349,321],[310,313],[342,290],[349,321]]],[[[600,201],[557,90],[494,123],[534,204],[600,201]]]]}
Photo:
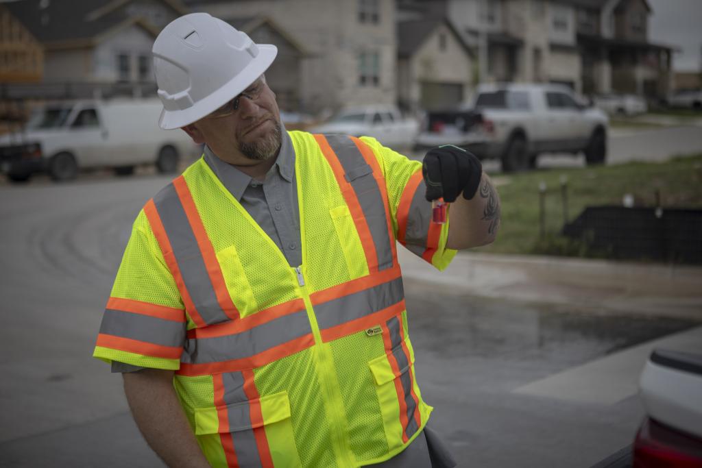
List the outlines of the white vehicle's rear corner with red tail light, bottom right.
{"type": "Polygon", "coordinates": [[[639,387],[647,416],[633,467],[702,467],[702,351],[656,349],[639,387]]]}

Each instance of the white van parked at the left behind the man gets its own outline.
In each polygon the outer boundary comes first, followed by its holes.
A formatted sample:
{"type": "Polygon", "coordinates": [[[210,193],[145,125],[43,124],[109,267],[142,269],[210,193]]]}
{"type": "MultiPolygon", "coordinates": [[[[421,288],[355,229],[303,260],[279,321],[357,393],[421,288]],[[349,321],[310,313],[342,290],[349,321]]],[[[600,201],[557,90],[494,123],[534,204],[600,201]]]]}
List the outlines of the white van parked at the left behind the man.
{"type": "Polygon", "coordinates": [[[0,137],[0,171],[16,182],[44,171],[57,181],[75,178],[81,169],[129,175],[143,164],[173,173],[200,149],[182,130],[159,128],[161,109],[157,99],[46,105],[21,132],[0,137]]]}

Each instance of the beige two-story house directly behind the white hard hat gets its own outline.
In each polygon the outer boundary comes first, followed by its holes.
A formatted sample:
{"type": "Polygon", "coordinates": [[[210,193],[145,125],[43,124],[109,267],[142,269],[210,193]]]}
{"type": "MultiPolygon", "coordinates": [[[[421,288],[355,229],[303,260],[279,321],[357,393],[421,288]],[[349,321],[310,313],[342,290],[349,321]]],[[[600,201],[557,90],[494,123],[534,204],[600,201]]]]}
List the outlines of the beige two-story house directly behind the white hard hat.
{"type": "Polygon", "coordinates": [[[397,102],[395,0],[187,0],[186,4],[192,11],[230,22],[265,16],[282,25],[305,50],[300,68],[291,64],[287,70],[287,76],[299,83],[296,110],[316,113],[397,102]]]}

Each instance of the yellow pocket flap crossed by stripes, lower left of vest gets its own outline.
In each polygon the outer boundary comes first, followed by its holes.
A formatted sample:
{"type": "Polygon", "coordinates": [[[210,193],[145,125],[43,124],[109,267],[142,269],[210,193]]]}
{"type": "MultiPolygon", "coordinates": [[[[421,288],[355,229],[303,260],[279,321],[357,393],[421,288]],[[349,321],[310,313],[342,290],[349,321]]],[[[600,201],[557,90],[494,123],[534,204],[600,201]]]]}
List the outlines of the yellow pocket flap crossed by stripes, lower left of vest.
{"type": "Polygon", "coordinates": [[[251,401],[238,401],[226,406],[195,408],[195,435],[217,434],[256,429],[266,424],[283,421],[290,417],[290,401],[287,392],[279,392],[251,401]],[[263,415],[263,421],[252,421],[252,410],[263,415]],[[220,425],[220,414],[223,421],[220,425]]]}

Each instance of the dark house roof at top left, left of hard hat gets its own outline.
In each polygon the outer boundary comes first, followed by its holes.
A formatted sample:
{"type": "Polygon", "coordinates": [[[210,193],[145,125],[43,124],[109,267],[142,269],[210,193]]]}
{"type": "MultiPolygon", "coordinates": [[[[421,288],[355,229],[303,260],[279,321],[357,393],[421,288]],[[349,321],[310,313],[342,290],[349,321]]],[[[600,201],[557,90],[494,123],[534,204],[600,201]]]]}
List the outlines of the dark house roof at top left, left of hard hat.
{"type": "MultiPolygon", "coordinates": [[[[126,24],[139,24],[150,32],[157,32],[150,23],[126,13],[129,0],[22,0],[5,4],[8,11],[41,43],[93,40],[111,29],[126,24]],[[41,8],[45,6],[45,8],[41,8]]],[[[185,12],[179,1],[161,0],[174,13],[185,12]]],[[[155,36],[155,34],[154,34],[155,36]]]]}

